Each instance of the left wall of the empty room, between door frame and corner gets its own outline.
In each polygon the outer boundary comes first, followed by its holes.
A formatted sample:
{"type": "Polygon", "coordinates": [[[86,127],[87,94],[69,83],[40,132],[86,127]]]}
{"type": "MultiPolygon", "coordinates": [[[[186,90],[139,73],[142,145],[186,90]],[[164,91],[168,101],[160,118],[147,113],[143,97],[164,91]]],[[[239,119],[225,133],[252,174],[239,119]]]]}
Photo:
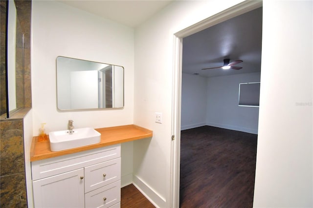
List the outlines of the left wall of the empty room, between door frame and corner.
{"type": "Polygon", "coordinates": [[[206,125],[207,78],[182,74],[181,130],[206,125]]]}

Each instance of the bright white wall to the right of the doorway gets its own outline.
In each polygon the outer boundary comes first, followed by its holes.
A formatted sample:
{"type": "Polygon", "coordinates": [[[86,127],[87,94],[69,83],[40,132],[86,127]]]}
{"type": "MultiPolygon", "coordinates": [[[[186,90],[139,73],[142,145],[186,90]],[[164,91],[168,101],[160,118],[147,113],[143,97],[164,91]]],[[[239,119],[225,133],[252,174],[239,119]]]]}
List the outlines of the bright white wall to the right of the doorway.
{"type": "Polygon", "coordinates": [[[263,2],[254,207],[313,207],[312,37],[313,1],[263,2]]]}

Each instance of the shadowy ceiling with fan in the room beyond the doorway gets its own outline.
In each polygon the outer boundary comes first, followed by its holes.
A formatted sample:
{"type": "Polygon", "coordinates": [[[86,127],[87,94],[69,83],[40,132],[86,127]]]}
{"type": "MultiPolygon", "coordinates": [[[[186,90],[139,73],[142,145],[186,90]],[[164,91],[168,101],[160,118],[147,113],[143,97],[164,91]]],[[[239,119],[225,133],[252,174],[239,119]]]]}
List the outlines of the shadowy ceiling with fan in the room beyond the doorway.
{"type": "Polygon", "coordinates": [[[261,71],[262,7],[221,22],[183,39],[182,71],[200,76],[224,76],[261,71]],[[234,69],[202,68],[223,66],[223,60],[242,60],[234,69]]]}

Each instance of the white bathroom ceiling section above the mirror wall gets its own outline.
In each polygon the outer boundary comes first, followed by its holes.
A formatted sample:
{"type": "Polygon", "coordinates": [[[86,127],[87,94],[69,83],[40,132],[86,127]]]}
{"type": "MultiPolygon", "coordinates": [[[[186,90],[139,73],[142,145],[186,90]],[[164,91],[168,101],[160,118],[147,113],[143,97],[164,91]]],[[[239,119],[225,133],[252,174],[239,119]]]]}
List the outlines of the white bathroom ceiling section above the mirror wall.
{"type": "Polygon", "coordinates": [[[100,17],[136,27],[173,0],[58,0],[100,17]]]}

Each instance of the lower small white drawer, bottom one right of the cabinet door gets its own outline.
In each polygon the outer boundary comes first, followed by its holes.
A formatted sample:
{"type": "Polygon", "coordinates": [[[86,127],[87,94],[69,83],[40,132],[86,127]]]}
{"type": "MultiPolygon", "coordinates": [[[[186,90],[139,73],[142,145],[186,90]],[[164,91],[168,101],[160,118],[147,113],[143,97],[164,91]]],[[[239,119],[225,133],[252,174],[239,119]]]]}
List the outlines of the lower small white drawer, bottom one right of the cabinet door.
{"type": "Polygon", "coordinates": [[[121,181],[85,194],[86,208],[109,208],[121,201],[121,181]]]}

